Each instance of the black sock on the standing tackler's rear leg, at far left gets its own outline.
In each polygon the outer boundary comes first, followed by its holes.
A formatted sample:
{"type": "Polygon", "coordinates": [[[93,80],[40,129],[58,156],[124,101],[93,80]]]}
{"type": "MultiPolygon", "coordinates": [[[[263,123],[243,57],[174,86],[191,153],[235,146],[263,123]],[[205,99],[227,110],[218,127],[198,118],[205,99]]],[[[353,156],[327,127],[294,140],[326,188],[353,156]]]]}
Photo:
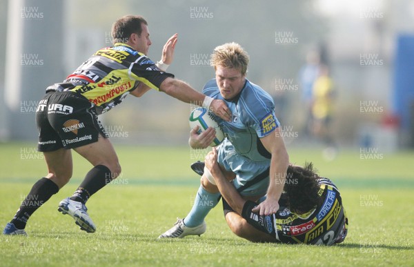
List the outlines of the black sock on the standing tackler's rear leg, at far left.
{"type": "Polygon", "coordinates": [[[10,223],[14,224],[17,229],[24,229],[29,217],[46,201],[59,192],[59,187],[50,179],[42,177],[39,181],[34,183],[32,190],[26,198],[21,202],[19,210],[14,215],[10,223]]]}

